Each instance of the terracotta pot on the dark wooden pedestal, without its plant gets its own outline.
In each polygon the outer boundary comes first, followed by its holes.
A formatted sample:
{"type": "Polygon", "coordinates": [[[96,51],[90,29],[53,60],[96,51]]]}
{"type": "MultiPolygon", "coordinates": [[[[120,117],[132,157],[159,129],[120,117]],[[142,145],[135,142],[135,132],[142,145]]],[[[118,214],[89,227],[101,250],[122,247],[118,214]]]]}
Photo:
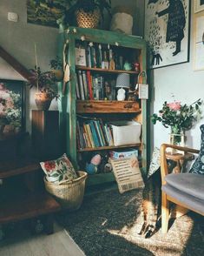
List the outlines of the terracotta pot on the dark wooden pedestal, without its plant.
{"type": "Polygon", "coordinates": [[[41,92],[41,91],[36,92],[35,94],[36,108],[39,111],[48,111],[52,99],[53,99],[53,96],[49,92],[41,92]]]}

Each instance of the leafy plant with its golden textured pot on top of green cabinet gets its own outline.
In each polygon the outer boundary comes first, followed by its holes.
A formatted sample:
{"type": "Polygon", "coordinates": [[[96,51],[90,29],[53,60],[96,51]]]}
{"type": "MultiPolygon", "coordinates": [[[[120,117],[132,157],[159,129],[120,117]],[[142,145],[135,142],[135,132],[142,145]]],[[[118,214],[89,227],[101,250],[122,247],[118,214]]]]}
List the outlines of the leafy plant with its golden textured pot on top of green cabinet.
{"type": "Polygon", "coordinates": [[[111,0],[69,0],[69,9],[65,11],[65,23],[76,23],[82,28],[96,28],[106,9],[111,15],[111,0]]]}

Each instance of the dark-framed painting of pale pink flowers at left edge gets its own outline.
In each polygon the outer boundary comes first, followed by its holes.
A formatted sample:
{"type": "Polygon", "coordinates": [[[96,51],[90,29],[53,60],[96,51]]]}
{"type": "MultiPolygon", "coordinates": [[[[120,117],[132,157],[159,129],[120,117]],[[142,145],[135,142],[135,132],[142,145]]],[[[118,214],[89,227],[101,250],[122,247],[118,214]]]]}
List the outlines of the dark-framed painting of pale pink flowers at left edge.
{"type": "Polygon", "coordinates": [[[0,139],[24,130],[24,82],[0,79],[0,139]]]}

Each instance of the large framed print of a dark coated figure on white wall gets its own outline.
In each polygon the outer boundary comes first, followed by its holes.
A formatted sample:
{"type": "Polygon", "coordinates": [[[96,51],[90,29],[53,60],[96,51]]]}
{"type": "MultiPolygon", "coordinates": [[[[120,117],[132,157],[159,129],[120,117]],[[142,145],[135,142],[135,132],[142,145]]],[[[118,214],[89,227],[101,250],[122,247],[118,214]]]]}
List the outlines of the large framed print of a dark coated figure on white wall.
{"type": "Polygon", "coordinates": [[[145,0],[149,67],[189,61],[190,0],[145,0]]]}

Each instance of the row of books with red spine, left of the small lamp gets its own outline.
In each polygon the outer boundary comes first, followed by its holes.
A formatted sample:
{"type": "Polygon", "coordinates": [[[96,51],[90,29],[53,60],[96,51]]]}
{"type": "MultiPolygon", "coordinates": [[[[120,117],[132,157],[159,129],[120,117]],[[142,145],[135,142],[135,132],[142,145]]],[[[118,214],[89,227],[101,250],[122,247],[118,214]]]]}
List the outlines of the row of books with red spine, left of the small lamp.
{"type": "Polygon", "coordinates": [[[90,71],[76,72],[76,98],[81,100],[115,99],[115,80],[105,80],[90,71]]]}

